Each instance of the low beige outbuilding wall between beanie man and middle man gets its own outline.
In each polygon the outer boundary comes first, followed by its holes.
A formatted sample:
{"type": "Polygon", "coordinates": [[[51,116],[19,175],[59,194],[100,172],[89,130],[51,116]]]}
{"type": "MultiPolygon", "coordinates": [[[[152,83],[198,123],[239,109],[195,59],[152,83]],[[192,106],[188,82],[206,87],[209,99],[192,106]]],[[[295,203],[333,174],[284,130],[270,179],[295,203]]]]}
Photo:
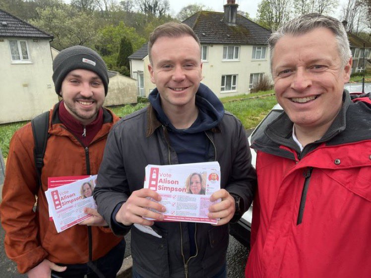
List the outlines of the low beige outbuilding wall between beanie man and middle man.
{"type": "Polygon", "coordinates": [[[115,106],[136,103],[137,99],[136,80],[117,74],[110,78],[108,94],[104,106],[115,106]]]}

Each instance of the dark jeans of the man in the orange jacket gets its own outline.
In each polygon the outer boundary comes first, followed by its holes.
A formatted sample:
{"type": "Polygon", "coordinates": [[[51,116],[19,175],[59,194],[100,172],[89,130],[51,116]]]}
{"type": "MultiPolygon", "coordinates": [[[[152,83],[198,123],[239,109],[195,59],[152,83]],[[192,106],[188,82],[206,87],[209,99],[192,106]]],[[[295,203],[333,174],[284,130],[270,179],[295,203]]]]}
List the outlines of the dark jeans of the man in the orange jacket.
{"type": "Polygon", "coordinates": [[[52,271],[52,278],[116,278],[124,261],[125,241],[122,240],[110,252],[96,261],[86,264],[58,264],[66,266],[63,272],[52,271]]]}

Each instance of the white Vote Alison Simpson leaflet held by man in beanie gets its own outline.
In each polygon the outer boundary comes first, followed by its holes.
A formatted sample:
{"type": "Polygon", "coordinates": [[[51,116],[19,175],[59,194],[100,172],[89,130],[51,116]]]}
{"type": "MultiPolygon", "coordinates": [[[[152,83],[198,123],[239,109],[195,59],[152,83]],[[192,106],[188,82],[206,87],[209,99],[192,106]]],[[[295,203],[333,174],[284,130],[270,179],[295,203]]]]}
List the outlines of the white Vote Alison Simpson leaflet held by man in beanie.
{"type": "Polygon", "coordinates": [[[92,175],[45,191],[58,232],[89,218],[84,208],[97,208],[92,195],[96,178],[92,175]]]}

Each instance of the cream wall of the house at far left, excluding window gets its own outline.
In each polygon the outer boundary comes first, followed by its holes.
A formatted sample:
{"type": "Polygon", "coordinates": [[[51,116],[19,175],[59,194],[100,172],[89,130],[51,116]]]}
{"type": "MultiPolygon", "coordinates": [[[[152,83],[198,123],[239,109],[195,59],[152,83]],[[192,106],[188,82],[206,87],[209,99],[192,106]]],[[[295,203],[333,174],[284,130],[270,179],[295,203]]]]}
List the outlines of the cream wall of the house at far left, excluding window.
{"type": "Polygon", "coordinates": [[[8,39],[0,42],[0,123],[29,120],[58,102],[49,40],[26,41],[29,63],[12,62],[8,39]]]}

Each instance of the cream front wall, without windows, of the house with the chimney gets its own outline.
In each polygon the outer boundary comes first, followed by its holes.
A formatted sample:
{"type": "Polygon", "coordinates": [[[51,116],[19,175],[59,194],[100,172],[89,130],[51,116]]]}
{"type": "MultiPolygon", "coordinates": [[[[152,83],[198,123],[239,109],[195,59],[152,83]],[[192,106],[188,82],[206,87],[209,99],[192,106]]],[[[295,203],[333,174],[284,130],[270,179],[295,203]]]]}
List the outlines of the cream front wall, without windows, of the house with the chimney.
{"type": "Polygon", "coordinates": [[[240,46],[239,59],[236,61],[223,61],[224,45],[208,45],[208,59],[203,61],[203,80],[219,98],[249,93],[251,73],[265,73],[270,79],[269,49],[266,58],[252,60],[252,46],[240,46]],[[237,88],[233,92],[221,91],[222,75],[237,74],[237,88]]]}

